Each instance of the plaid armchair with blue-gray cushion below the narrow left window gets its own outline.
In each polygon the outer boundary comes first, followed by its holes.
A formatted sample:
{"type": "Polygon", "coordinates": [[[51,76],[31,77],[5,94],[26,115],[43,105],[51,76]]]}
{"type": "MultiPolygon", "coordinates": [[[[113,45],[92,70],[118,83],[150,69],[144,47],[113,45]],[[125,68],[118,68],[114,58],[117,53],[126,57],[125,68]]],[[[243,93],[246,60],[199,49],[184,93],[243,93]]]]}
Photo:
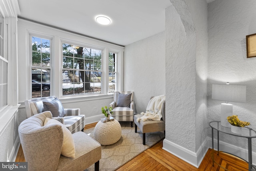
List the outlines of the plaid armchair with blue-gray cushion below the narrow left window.
{"type": "Polygon", "coordinates": [[[80,109],[64,109],[55,96],[29,99],[24,103],[27,118],[43,111],[51,111],[52,118],[63,123],[71,133],[84,130],[85,115],[80,115],[80,109]]]}

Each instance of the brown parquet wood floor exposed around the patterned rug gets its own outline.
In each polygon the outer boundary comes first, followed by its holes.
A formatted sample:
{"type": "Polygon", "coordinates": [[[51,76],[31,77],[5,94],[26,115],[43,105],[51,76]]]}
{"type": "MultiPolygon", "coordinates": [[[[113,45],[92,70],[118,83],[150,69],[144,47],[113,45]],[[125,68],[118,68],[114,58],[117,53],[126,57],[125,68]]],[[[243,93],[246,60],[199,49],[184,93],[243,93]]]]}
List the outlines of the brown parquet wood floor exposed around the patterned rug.
{"type": "MultiPolygon", "coordinates": [[[[84,129],[94,127],[96,123],[86,125],[84,129]]],[[[196,168],[178,157],[162,149],[163,142],[160,141],[119,167],[116,171],[248,171],[248,163],[216,151],[213,153],[214,166],[212,166],[212,149],[208,149],[199,168],[196,168]]],[[[24,162],[22,147],[20,146],[16,162],[24,162]]]]}

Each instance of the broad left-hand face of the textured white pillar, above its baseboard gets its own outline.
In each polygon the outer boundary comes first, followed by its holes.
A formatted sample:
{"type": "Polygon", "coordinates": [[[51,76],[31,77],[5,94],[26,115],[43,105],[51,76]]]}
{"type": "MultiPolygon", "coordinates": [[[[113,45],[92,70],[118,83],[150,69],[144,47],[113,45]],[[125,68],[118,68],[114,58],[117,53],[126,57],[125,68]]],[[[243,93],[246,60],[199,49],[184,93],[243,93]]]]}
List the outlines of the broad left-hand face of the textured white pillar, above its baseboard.
{"type": "Polygon", "coordinates": [[[196,36],[186,4],[171,2],[174,6],[166,10],[165,139],[195,151],[196,36]]]}

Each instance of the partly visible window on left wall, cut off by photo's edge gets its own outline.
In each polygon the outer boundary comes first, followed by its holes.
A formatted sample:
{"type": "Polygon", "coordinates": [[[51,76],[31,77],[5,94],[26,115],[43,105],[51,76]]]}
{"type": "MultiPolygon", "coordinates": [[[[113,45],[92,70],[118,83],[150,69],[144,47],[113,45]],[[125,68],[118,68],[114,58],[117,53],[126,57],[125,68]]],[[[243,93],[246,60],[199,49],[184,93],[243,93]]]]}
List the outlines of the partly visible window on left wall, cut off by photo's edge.
{"type": "Polygon", "coordinates": [[[8,25],[4,25],[4,18],[0,14],[0,111],[7,106],[8,83],[8,54],[7,36],[8,25]]]}

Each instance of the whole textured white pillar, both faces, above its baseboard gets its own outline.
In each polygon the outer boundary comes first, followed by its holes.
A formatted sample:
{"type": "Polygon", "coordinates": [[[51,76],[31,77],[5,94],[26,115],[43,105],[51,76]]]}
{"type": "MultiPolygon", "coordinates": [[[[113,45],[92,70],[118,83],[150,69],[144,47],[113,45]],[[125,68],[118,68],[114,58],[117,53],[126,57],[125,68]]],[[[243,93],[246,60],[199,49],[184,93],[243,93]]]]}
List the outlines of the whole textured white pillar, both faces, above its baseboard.
{"type": "Polygon", "coordinates": [[[166,140],[196,152],[207,127],[207,4],[170,0],[166,10],[166,140]]]}

